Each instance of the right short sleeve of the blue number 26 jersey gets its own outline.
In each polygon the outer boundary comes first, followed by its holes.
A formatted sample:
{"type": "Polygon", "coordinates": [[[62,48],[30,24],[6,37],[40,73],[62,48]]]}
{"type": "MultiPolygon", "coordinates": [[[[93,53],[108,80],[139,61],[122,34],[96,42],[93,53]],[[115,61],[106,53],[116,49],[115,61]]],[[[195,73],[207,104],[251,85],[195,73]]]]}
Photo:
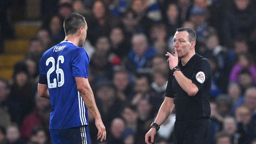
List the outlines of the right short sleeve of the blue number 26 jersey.
{"type": "Polygon", "coordinates": [[[88,78],[88,67],[90,59],[81,47],[78,47],[72,51],[72,74],[74,77],[88,78]]]}

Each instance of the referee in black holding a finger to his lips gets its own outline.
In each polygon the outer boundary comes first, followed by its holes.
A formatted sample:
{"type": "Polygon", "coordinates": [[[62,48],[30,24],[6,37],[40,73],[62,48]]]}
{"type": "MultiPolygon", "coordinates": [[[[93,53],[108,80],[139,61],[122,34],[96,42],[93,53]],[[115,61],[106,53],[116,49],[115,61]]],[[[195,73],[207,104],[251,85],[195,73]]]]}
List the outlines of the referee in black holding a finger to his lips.
{"type": "Polygon", "coordinates": [[[211,66],[206,58],[195,53],[196,33],[193,29],[178,28],[173,41],[174,56],[169,52],[166,54],[170,67],[166,97],[145,135],[145,142],[154,142],[157,130],[175,105],[174,143],[207,144],[211,126],[211,66]]]}

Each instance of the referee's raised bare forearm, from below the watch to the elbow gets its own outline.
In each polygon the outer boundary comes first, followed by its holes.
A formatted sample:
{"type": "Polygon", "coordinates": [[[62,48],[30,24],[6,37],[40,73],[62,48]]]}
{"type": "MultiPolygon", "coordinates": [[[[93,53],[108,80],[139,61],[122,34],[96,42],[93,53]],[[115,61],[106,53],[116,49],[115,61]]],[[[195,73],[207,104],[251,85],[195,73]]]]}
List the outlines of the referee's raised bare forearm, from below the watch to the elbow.
{"type": "Polygon", "coordinates": [[[186,76],[183,75],[181,71],[174,71],[174,77],[180,87],[189,95],[194,96],[199,91],[198,87],[192,82],[191,79],[188,79],[186,76]]]}

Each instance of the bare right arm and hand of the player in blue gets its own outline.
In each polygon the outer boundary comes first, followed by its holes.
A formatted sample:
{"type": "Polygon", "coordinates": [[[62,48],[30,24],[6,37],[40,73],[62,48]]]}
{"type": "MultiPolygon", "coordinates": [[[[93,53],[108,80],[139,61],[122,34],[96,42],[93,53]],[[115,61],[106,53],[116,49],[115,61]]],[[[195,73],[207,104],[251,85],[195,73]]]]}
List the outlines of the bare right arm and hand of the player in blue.
{"type": "Polygon", "coordinates": [[[91,112],[92,116],[95,118],[95,125],[98,129],[98,139],[101,138],[101,141],[104,139],[106,140],[106,129],[101,120],[100,112],[96,106],[93,91],[89,84],[87,78],[84,77],[75,77],[77,90],[79,91],[80,95],[83,98],[83,101],[86,107],[91,112]]]}

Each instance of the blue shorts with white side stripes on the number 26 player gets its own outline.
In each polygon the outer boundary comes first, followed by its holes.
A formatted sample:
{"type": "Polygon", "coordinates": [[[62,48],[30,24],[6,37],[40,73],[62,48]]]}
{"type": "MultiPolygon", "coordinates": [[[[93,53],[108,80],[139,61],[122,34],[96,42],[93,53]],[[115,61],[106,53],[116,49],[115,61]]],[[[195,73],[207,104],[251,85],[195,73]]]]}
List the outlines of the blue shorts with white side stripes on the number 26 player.
{"type": "Polygon", "coordinates": [[[88,125],[68,129],[50,129],[52,144],[91,144],[88,125]]]}

